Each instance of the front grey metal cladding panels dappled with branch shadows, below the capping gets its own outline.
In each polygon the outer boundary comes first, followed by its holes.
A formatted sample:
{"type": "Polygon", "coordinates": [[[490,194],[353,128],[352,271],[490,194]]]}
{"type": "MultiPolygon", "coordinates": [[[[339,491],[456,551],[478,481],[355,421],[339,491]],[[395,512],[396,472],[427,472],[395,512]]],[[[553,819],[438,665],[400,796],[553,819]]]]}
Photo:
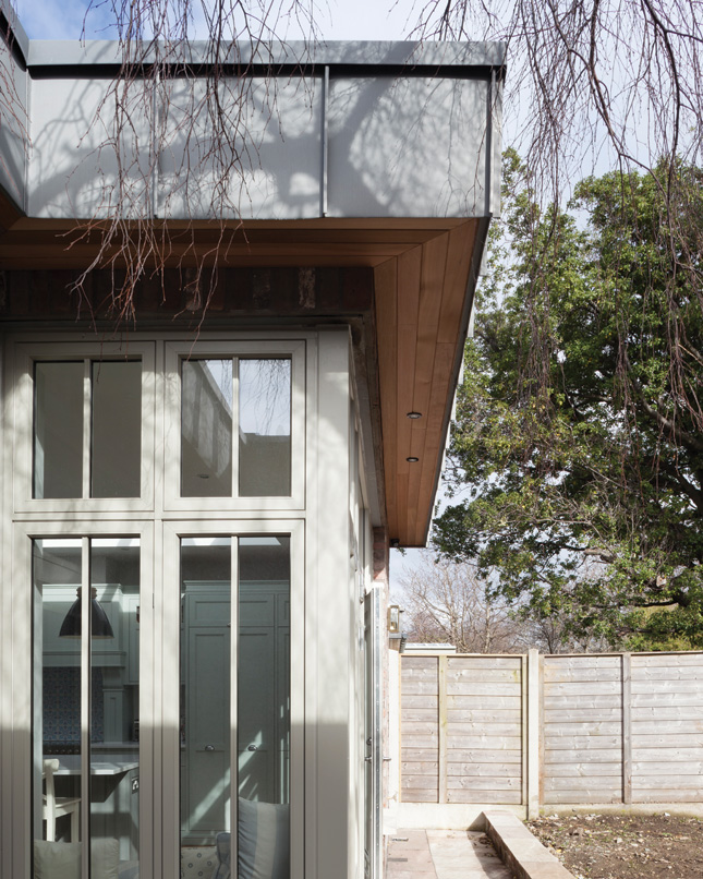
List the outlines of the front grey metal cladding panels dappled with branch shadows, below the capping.
{"type": "MultiPolygon", "coordinates": [[[[487,82],[410,65],[408,73],[374,74],[363,65],[366,44],[347,44],[344,52],[347,64],[359,58],[353,69],[369,75],[331,68],[327,213],[484,215],[487,82]]],[[[320,216],[319,73],[247,83],[243,89],[235,77],[220,83],[233,132],[226,144],[214,142],[202,80],[163,83],[158,155],[150,157],[140,152],[153,140],[154,106],[142,82],[126,92],[120,116],[114,101],[102,104],[108,79],[33,81],[29,213],[104,216],[120,203],[123,216],[144,217],[154,196],[157,215],[166,217],[320,216]]]]}

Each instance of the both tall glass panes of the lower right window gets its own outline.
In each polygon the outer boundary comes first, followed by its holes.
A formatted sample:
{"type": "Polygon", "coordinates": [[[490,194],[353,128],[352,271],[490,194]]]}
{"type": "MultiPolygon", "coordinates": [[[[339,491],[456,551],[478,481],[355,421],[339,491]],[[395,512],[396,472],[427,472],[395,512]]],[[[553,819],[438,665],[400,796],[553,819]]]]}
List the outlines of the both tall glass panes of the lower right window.
{"type": "MultiPolygon", "coordinates": [[[[288,876],[290,539],[235,543],[239,875],[288,876]],[[254,862],[255,874],[245,867],[254,862]]],[[[217,844],[225,860],[232,786],[231,544],[230,538],[181,541],[181,844],[217,844]]]]}

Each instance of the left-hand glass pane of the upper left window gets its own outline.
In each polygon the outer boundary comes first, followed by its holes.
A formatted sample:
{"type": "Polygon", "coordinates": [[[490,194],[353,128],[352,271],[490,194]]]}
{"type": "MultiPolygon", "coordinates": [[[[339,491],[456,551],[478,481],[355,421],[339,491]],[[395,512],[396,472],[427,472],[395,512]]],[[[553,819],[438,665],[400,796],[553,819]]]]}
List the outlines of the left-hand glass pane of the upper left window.
{"type": "Polygon", "coordinates": [[[78,363],[34,369],[34,496],[83,496],[83,372],[78,363]]]}

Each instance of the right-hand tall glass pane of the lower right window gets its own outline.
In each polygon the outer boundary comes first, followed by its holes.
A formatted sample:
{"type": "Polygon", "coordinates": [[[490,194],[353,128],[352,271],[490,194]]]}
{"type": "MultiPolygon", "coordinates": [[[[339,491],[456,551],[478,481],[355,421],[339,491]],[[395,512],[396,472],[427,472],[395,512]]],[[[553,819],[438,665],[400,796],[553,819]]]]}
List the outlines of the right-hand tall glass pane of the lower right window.
{"type": "Polygon", "coordinates": [[[270,875],[289,876],[290,538],[241,538],[239,569],[239,860],[265,821],[270,875]]]}

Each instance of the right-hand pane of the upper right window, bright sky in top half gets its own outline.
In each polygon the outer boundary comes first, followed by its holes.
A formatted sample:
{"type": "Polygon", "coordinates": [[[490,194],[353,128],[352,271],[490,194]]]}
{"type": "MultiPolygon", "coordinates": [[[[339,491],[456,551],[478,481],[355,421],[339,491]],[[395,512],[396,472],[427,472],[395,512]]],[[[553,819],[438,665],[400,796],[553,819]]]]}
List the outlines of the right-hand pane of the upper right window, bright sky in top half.
{"type": "Polygon", "coordinates": [[[240,360],[239,493],[291,493],[291,362],[240,360]]]}

